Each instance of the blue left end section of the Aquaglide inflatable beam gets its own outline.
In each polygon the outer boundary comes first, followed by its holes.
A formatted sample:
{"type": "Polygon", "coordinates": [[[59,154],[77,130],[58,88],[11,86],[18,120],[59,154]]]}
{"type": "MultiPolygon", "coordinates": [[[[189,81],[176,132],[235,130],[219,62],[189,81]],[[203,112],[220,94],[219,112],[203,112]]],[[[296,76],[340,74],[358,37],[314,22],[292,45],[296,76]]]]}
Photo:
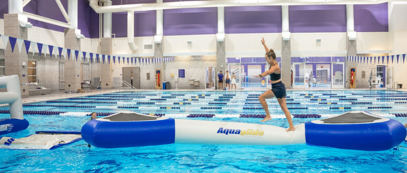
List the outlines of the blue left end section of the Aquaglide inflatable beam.
{"type": "Polygon", "coordinates": [[[83,140],[100,148],[124,148],[172,144],[175,121],[112,122],[91,120],[81,130],[83,140]]]}

